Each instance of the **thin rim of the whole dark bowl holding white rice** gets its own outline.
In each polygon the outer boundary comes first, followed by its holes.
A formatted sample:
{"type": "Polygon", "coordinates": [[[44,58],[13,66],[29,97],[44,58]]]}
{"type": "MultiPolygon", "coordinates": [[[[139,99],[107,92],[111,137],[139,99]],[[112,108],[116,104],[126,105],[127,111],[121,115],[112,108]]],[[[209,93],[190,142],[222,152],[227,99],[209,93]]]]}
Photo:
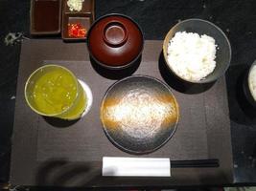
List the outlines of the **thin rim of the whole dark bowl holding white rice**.
{"type": "MultiPolygon", "coordinates": [[[[224,32],[222,32],[222,30],[221,30],[220,27],[218,27],[217,25],[213,24],[212,22],[207,21],[207,20],[203,20],[203,19],[199,19],[199,18],[190,18],[190,19],[186,19],[186,20],[183,20],[183,21],[181,21],[181,22],[176,23],[175,26],[173,26],[173,27],[169,30],[169,32],[167,32],[167,34],[165,35],[162,49],[163,49],[163,54],[164,54],[165,62],[166,62],[166,65],[167,65],[168,69],[169,69],[173,74],[175,74],[175,76],[177,76],[179,79],[182,79],[182,80],[185,81],[185,82],[196,83],[196,84],[207,84],[207,83],[211,83],[211,82],[214,82],[214,81],[218,80],[222,75],[224,75],[224,74],[226,73],[227,69],[228,69],[229,66],[230,66],[230,62],[231,62],[231,59],[232,59],[232,49],[231,49],[231,45],[230,45],[230,42],[229,42],[229,40],[228,40],[226,34],[225,34],[224,32]],[[177,27],[178,25],[181,25],[181,24],[186,23],[186,22],[191,22],[191,21],[197,21],[197,22],[207,23],[207,24],[213,26],[214,28],[217,29],[218,32],[220,32],[220,33],[222,34],[222,36],[224,37],[224,39],[226,40],[227,45],[228,45],[229,59],[228,59],[228,63],[226,64],[225,69],[224,69],[220,74],[218,74],[214,79],[209,80],[209,81],[204,81],[203,79],[202,79],[202,80],[199,80],[199,81],[197,81],[197,80],[188,80],[188,79],[185,79],[184,77],[179,76],[178,74],[176,74],[175,71],[172,69],[172,67],[170,67],[169,64],[168,64],[168,58],[167,58],[167,53],[166,53],[167,50],[164,49],[164,45],[165,45],[166,43],[169,43],[169,41],[171,40],[171,39],[168,39],[168,36],[169,36],[170,33],[174,30],[174,28],[177,27]]],[[[208,75],[206,75],[205,78],[207,78],[207,76],[208,76],[208,75]]]]}

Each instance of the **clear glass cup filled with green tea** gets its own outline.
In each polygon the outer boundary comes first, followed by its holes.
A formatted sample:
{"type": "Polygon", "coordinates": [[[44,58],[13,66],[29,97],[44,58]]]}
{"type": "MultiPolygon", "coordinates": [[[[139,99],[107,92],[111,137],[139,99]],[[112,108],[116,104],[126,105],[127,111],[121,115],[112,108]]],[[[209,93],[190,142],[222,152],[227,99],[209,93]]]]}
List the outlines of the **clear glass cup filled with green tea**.
{"type": "Polygon", "coordinates": [[[44,116],[75,119],[81,117],[86,96],[77,78],[62,67],[49,65],[29,81],[29,102],[44,116]]]}

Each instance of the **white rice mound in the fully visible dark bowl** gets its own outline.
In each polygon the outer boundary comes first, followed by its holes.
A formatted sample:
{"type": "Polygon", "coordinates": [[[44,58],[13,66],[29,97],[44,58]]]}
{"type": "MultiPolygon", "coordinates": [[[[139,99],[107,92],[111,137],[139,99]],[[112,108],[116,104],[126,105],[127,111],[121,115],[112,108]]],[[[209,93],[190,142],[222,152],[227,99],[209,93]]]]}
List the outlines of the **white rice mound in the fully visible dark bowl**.
{"type": "Polygon", "coordinates": [[[168,45],[168,65],[178,76],[199,81],[216,67],[215,39],[206,34],[176,32],[168,45]]]}

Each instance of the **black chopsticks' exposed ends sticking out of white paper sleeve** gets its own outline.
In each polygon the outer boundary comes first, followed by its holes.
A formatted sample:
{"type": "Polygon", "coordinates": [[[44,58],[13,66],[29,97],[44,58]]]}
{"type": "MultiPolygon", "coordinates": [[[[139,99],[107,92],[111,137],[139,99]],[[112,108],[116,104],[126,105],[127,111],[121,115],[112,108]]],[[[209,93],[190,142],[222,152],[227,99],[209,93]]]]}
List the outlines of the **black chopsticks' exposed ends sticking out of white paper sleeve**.
{"type": "Polygon", "coordinates": [[[187,159],[187,160],[171,160],[172,168],[203,168],[203,167],[219,167],[219,159],[187,159]]]}

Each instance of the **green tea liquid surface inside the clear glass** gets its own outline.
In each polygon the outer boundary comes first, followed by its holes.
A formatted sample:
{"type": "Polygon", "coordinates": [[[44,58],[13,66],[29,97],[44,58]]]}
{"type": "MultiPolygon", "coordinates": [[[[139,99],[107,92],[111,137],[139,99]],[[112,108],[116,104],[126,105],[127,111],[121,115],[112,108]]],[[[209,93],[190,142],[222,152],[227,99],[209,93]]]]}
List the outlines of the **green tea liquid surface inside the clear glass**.
{"type": "Polygon", "coordinates": [[[69,108],[77,96],[77,82],[71,74],[54,70],[35,81],[33,99],[37,110],[47,115],[59,114],[69,108]]]}

